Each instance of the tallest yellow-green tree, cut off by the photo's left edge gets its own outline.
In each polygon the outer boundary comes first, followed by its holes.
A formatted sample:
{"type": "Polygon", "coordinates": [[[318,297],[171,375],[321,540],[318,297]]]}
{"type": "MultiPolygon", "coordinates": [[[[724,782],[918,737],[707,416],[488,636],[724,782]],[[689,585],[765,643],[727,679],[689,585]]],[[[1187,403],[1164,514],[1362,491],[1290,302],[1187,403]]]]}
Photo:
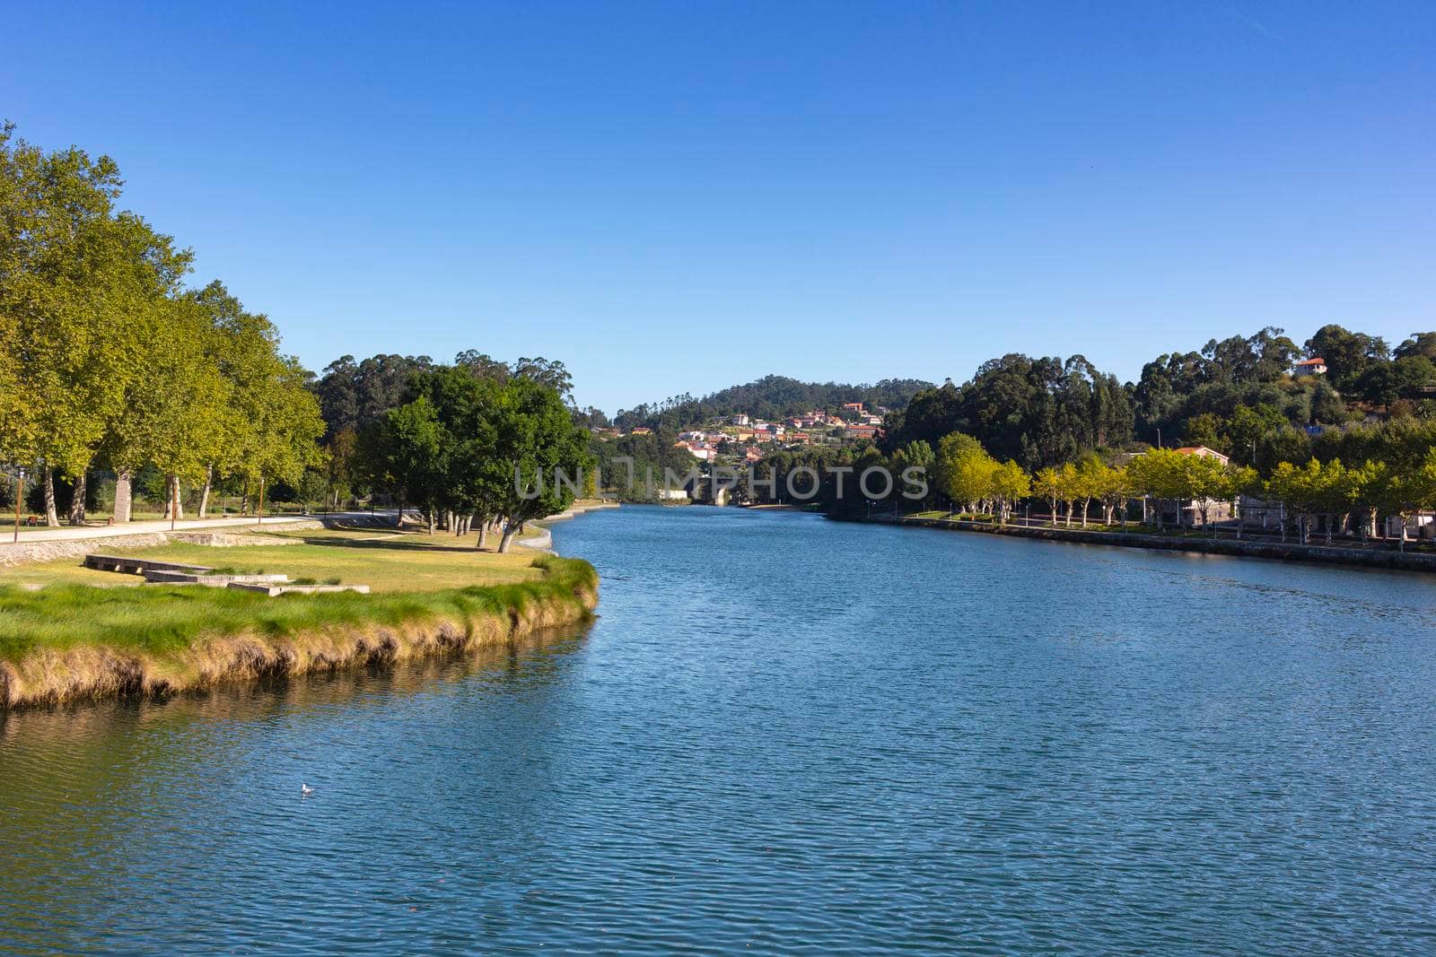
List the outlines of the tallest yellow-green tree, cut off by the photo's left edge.
{"type": "MultiPolygon", "coordinates": [[[[135,329],[175,287],[190,254],[116,212],[119,169],[69,148],[45,154],[0,128],[0,316],[10,356],[0,448],[42,462],[46,519],[55,471],[80,478],[131,386],[149,337],[135,329]]],[[[83,495],[80,496],[83,501],[83,495]]]]}

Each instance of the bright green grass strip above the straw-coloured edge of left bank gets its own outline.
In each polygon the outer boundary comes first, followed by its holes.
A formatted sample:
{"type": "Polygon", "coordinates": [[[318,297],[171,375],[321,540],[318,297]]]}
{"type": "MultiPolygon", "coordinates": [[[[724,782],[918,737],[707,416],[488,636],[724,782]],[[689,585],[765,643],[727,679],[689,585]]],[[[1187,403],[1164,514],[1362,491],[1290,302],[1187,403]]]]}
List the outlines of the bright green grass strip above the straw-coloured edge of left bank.
{"type": "Polygon", "coordinates": [[[20,661],[43,650],[101,646],[164,661],[181,659],[197,640],[211,636],[283,638],[336,627],[358,630],[429,621],[460,621],[471,627],[482,618],[508,617],[538,603],[577,607],[577,591],[597,587],[597,575],[586,561],[551,555],[517,558],[524,562],[516,570],[524,572],[523,580],[370,595],[270,598],[195,585],[92,588],[70,583],[27,591],[3,584],[0,661],[20,661]]]}

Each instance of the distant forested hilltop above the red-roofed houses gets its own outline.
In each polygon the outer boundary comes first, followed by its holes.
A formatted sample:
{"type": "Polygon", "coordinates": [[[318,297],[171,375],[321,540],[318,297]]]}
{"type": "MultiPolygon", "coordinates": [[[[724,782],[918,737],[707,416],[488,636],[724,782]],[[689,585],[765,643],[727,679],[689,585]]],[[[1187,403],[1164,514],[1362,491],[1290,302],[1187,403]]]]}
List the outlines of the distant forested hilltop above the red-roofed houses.
{"type": "Polygon", "coordinates": [[[902,409],[916,393],[931,389],[920,379],[883,379],[877,385],[846,386],[836,382],[798,382],[787,376],[764,376],[745,386],[731,386],[702,399],[673,396],[656,405],[623,409],[613,418],[620,429],[682,429],[714,418],[747,412],[764,419],[781,419],[811,409],[834,409],[844,402],[863,402],[869,407],[902,409]]]}

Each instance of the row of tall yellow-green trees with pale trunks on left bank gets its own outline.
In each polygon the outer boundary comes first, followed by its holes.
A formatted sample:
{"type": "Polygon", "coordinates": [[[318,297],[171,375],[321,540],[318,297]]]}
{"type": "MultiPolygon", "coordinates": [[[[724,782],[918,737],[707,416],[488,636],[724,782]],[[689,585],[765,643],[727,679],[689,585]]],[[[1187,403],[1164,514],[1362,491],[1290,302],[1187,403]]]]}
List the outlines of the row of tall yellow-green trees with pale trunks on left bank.
{"type": "Polygon", "coordinates": [[[181,482],[220,475],[261,494],[320,463],[307,373],[279,334],[220,283],[182,287],[192,254],[121,211],[108,156],[46,154],[0,129],[0,461],[36,468],[59,524],[56,473],[82,519],[92,466],[116,472],[118,521],[131,478],[155,466],[178,509],[181,482]]]}

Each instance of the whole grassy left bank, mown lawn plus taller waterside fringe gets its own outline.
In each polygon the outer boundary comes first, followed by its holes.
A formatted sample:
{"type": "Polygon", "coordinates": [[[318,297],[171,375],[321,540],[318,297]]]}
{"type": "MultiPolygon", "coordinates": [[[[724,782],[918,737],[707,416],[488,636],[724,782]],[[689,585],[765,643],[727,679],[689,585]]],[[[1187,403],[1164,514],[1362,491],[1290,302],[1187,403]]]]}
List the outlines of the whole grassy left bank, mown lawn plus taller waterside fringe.
{"type": "Polygon", "coordinates": [[[73,561],[0,575],[0,706],[167,694],[503,644],[586,617],[580,560],[494,555],[447,537],[303,532],[303,544],[171,545],[145,557],[369,584],[375,594],[260,594],[136,580],[73,561]],[[29,585],[29,587],[26,587],[29,585]],[[37,590],[34,585],[42,585],[37,590]]]}

